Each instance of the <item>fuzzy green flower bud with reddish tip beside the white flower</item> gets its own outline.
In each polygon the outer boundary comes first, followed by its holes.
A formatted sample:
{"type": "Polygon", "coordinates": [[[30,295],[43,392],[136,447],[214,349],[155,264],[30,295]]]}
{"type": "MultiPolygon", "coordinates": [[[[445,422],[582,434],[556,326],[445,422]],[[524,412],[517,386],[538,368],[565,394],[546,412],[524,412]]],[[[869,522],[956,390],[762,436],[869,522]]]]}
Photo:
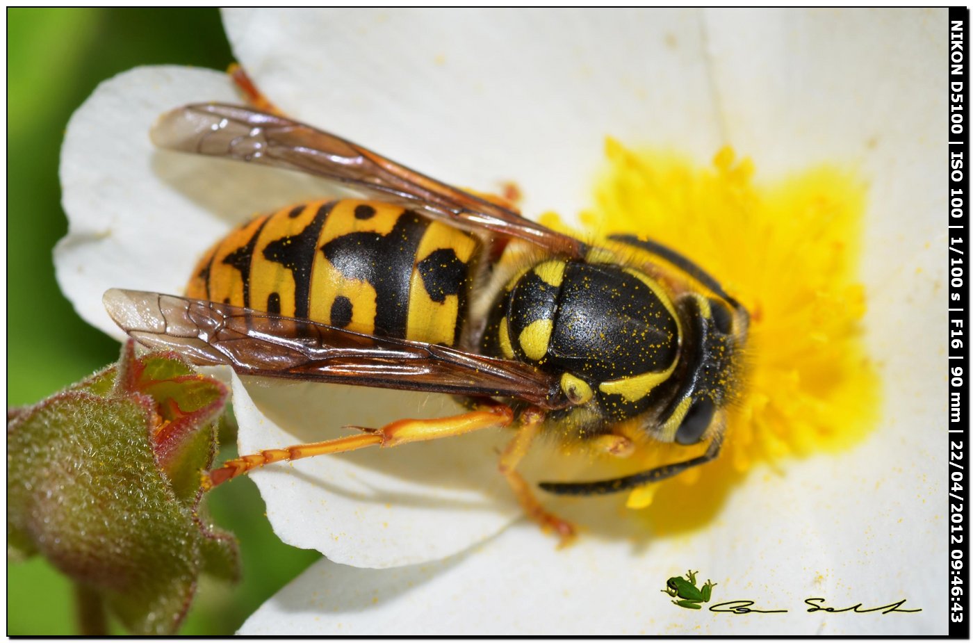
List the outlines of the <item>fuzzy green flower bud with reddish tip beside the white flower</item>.
{"type": "Polygon", "coordinates": [[[238,576],[234,537],[199,507],[227,395],[128,346],[116,367],[9,414],[8,559],[43,554],[131,632],[174,632],[200,572],[238,576]]]}

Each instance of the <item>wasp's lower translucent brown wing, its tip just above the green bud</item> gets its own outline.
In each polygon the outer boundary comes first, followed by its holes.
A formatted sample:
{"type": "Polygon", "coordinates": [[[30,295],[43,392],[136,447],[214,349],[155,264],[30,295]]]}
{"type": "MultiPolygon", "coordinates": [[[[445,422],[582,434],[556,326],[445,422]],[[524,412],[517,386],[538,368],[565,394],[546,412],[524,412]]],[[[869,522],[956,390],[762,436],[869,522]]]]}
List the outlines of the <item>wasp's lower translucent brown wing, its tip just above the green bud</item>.
{"type": "Polygon", "coordinates": [[[309,379],[567,406],[552,375],[520,362],[440,344],[378,338],[293,317],[171,295],[112,289],[108,314],[131,338],[201,366],[242,375],[309,379]]]}

